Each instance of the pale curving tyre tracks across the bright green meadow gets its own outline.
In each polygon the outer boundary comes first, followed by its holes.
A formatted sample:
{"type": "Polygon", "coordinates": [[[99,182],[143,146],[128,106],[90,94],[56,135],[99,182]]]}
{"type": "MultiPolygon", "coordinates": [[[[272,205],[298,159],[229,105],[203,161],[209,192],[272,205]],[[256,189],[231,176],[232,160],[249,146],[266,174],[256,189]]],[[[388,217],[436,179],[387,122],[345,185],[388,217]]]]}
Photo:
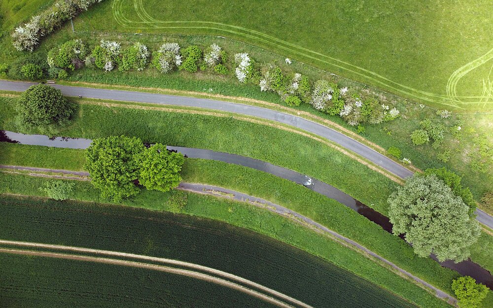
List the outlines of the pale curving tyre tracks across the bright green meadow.
{"type": "MultiPolygon", "coordinates": [[[[199,31],[216,31],[219,34],[229,33],[240,38],[247,38],[255,41],[259,44],[275,47],[282,49],[285,52],[295,54],[304,58],[315,60],[321,64],[329,65],[341,70],[350,72],[357,76],[372,82],[374,85],[380,85],[398,94],[405,95],[407,97],[422,100],[429,103],[440,104],[444,106],[449,106],[453,108],[462,109],[462,105],[480,104],[486,107],[487,104],[493,103],[491,98],[492,91],[483,91],[482,95],[479,96],[458,96],[456,94],[456,86],[458,80],[465,74],[462,71],[469,69],[474,69],[484,63],[485,59],[491,59],[493,57],[493,49],[487,54],[480,57],[477,60],[467,64],[466,66],[456,70],[450,77],[449,83],[447,84],[447,94],[436,94],[423,90],[418,90],[410,86],[406,86],[401,83],[392,81],[374,71],[361,68],[352,65],[348,62],[324,55],[322,53],[310,50],[308,48],[289,43],[282,39],[276,38],[274,36],[264,34],[258,31],[246,29],[239,26],[228,25],[218,22],[208,22],[208,21],[161,21],[153,18],[144,8],[142,0],[133,0],[133,7],[135,14],[139,20],[133,20],[123,13],[124,6],[127,4],[128,0],[115,0],[112,3],[113,16],[122,27],[125,28],[139,28],[139,29],[194,29],[199,31]],[[478,64],[479,63],[479,64],[478,64]],[[478,65],[476,65],[478,64],[478,65]],[[476,66],[475,66],[476,65],[476,66]]],[[[487,61],[488,61],[487,60],[487,61]]]]}

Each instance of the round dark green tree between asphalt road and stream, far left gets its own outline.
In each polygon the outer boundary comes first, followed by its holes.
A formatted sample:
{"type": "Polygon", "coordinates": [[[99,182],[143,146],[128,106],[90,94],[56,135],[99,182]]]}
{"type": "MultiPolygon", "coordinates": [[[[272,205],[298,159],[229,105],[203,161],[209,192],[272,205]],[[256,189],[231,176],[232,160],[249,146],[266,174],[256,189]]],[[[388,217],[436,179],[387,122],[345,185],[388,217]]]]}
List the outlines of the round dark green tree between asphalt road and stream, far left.
{"type": "Polygon", "coordinates": [[[19,124],[28,127],[65,124],[74,111],[60,90],[44,84],[31,86],[17,102],[19,124]]]}

